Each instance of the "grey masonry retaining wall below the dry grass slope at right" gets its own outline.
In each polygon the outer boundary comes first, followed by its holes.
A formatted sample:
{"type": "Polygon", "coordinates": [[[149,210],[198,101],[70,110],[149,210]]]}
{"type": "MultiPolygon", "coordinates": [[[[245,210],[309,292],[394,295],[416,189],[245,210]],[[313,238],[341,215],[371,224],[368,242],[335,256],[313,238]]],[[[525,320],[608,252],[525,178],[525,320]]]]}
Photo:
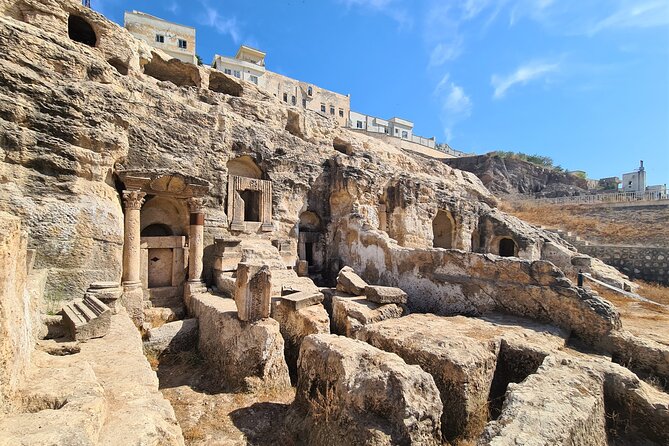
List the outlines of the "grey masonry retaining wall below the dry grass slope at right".
{"type": "Polygon", "coordinates": [[[578,250],[617,268],[630,279],[669,285],[669,248],[581,244],[578,250]]]}

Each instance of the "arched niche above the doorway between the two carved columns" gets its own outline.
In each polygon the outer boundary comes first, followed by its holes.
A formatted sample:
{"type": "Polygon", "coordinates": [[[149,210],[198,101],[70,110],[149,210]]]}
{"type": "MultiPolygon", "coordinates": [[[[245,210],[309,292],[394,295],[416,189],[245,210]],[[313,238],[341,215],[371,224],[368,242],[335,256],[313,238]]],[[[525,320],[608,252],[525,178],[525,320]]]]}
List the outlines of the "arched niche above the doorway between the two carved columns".
{"type": "MultiPolygon", "coordinates": [[[[189,212],[184,200],[170,197],[153,196],[146,200],[140,213],[141,232],[144,236],[145,230],[156,231],[161,227],[169,234],[163,235],[188,235],[189,212]]],[[[147,234],[147,237],[158,236],[147,234]]]]}

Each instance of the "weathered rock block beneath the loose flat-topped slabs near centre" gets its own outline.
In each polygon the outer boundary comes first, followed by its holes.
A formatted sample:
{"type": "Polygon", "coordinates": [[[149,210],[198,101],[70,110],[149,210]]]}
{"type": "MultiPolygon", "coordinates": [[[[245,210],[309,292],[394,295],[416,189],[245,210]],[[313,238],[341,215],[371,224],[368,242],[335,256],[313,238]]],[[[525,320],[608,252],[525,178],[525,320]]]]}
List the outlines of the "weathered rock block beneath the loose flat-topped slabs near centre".
{"type": "Polygon", "coordinates": [[[404,308],[397,304],[377,304],[362,296],[346,296],[341,293],[332,297],[332,327],[340,335],[353,337],[367,324],[402,317],[404,308]]]}

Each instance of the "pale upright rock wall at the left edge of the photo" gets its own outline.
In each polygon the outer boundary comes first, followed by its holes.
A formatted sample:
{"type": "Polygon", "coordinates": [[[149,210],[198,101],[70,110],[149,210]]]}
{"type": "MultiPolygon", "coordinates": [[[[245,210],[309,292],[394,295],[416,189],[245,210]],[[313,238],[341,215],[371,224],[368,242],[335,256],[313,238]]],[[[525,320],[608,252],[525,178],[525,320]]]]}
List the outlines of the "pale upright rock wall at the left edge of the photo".
{"type": "Polygon", "coordinates": [[[26,292],[26,237],[16,217],[0,212],[0,414],[21,384],[33,349],[31,313],[26,292]]]}

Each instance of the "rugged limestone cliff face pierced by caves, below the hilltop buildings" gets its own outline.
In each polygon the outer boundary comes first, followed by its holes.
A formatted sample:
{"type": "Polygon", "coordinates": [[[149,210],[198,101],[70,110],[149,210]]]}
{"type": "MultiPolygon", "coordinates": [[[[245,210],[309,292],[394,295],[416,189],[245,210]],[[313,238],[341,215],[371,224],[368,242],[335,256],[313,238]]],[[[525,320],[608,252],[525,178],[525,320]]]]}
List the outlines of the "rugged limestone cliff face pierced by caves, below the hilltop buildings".
{"type": "MultiPolygon", "coordinates": [[[[204,202],[211,281],[214,239],[239,235],[228,215],[228,178],[238,174],[230,161],[239,160],[272,184],[273,230],[246,236],[285,240],[296,254],[300,216],[312,213],[325,240],[324,280],[340,266],[329,241],[345,237],[339,222],[351,213],[404,247],[499,254],[499,240],[510,237],[513,254],[534,260],[550,245],[562,253],[560,266],[571,267],[568,245],[495,210],[471,173],[339,128],[251,83],[169,60],[78,2],[2,0],[0,13],[0,210],[22,218],[52,299],[120,280],[121,174],[130,170],[212,185],[204,202]],[[93,46],[78,41],[73,18],[90,26],[93,46]],[[440,212],[446,229],[435,223],[440,212]],[[439,231],[447,244],[435,242],[439,231]]],[[[187,228],[183,203],[169,212],[153,205],[145,205],[147,221],[171,212],[187,228]]]]}

